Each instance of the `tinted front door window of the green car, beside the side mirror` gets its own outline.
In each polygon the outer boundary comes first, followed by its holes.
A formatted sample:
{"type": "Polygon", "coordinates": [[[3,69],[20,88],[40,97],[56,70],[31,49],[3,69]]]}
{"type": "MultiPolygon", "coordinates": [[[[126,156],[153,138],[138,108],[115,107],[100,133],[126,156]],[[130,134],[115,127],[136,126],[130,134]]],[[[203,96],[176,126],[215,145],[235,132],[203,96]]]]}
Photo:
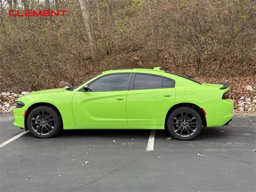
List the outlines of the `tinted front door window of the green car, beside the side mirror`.
{"type": "Polygon", "coordinates": [[[103,76],[89,84],[90,91],[120,91],[127,90],[130,74],[112,74],[103,76]]]}

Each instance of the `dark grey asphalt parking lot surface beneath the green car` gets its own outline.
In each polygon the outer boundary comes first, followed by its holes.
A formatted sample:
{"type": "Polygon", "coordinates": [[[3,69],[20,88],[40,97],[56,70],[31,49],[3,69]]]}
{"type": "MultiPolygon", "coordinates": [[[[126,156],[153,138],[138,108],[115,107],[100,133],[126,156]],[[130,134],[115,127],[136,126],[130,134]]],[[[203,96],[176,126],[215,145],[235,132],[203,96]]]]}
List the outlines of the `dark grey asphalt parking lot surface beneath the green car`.
{"type": "MultiPolygon", "coordinates": [[[[23,132],[0,114],[0,144],[23,132]]],[[[235,116],[192,141],[162,130],[29,133],[0,148],[0,191],[256,191],[256,118],[235,116]],[[204,156],[198,156],[203,154],[204,156]],[[90,162],[85,164],[84,162],[90,162]]]]}

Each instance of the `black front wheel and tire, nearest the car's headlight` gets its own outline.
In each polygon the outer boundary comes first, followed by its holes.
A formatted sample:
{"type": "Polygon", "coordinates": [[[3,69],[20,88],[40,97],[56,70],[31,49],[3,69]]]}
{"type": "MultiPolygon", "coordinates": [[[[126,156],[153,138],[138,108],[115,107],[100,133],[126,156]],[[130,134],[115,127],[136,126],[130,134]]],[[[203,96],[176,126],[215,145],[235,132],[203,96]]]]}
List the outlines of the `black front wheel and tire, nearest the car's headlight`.
{"type": "Polygon", "coordinates": [[[37,138],[52,138],[61,130],[62,119],[59,112],[50,106],[34,108],[27,118],[29,132],[37,138]]]}

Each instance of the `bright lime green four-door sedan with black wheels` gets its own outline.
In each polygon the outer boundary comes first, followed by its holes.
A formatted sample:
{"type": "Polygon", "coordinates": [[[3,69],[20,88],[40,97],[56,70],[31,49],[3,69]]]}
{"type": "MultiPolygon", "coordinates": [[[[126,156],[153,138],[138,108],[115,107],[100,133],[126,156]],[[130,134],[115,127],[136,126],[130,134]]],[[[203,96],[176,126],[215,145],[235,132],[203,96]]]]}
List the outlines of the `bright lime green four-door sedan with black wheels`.
{"type": "Polygon", "coordinates": [[[61,129],[166,129],[178,140],[202,126],[228,125],[229,84],[199,83],[154,69],[108,70],[73,88],[32,92],[16,100],[14,125],[38,138],[61,129]]]}

